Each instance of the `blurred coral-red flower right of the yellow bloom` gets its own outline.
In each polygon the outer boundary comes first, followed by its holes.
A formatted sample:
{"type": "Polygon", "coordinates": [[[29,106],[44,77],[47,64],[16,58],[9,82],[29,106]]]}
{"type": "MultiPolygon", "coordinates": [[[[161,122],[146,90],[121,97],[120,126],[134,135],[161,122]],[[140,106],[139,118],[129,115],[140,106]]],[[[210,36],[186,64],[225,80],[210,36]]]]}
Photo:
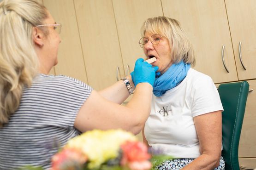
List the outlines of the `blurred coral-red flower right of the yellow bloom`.
{"type": "Polygon", "coordinates": [[[125,142],[121,145],[121,149],[123,151],[122,165],[130,164],[131,162],[144,162],[151,157],[147,146],[142,142],[125,142]]]}

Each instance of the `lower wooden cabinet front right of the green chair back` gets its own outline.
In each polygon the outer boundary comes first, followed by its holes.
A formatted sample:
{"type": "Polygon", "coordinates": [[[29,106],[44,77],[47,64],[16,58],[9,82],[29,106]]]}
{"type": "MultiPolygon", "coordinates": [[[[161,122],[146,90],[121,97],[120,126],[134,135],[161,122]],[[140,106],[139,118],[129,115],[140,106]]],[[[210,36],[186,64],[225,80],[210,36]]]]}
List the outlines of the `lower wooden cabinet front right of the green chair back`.
{"type": "Polygon", "coordinates": [[[249,91],[246,102],[238,155],[256,158],[256,80],[250,80],[248,83],[253,91],[249,91]]]}

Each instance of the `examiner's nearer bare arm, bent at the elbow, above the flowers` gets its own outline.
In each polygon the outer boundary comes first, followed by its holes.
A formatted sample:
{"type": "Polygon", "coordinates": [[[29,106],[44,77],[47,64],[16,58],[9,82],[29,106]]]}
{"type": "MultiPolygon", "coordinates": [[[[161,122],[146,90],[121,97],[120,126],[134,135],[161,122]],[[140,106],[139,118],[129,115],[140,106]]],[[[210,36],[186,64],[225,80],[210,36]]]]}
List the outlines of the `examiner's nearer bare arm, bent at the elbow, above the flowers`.
{"type": "Polygon", "coordinates": [[[74,126],[82,132],[121,128],[138,134],[150,113],[152,86],[140,83],[136,88],[131,101],[125,106],[109,102],[97,91],[92,91],[77,113],[74,126]]]}

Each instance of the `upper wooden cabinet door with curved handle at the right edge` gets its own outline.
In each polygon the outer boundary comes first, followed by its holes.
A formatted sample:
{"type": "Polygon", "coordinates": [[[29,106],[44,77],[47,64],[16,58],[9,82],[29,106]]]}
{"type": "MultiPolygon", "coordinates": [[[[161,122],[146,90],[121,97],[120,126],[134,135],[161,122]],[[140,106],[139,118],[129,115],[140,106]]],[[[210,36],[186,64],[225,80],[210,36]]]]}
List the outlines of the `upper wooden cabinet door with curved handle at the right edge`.
{"type": "Polygon", "coordinates": [[[238,79],[256,78],[256,0],[225,0],[238,79]],[[239,59],[239,42],[244,70],[239,59]]]}

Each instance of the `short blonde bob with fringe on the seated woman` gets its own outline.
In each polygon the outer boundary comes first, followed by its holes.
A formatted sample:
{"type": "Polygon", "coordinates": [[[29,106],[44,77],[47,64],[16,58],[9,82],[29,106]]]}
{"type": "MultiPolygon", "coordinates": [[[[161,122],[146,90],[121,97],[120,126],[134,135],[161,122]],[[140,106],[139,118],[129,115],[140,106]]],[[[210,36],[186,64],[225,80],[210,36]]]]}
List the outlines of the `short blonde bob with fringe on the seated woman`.
{"type": "Polygon", "coordinates": [[[184,30],[180,27],[179,21],[168,17],[148,18],[141,28],[141,34],[146,33],[161,34],[169,40],[171,55],[174,63],[182,60],[185,63],[195,65],[195,56],[190,40],[187,38],[184,30]]]}

